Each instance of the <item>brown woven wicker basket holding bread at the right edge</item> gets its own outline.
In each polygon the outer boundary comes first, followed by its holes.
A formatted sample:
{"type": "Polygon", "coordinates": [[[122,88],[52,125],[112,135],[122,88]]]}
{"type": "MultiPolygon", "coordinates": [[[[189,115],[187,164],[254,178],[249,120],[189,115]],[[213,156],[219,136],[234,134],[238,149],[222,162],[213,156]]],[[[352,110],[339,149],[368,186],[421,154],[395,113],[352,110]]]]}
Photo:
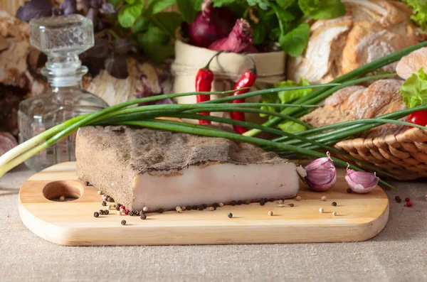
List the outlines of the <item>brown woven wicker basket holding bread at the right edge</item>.
{"type": "Polygon", "coordinates": [[[341,141],[335,144],[335,148],[386,170],[401,180],[427,177],[427,131],[422,129],[408,129],[399,135],[374,139],[341,141]]]}

